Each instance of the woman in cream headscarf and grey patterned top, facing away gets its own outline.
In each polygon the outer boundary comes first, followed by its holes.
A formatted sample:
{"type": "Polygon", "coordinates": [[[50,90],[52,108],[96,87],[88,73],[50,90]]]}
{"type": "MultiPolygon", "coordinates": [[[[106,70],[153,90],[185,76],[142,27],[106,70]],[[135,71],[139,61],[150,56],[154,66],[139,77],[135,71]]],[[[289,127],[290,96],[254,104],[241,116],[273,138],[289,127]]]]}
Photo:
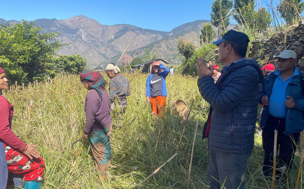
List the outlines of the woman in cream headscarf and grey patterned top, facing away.
{"type": "Polygon", "coordinates": [[[113,63],[107,65],[105,72],[111,79],[109,86],[111,109],[115,110],[117,108],[121,116],[127,108],[126,97],[131,95],[129,80],[125,76],[119,75],[120,69],[113,63]]]}

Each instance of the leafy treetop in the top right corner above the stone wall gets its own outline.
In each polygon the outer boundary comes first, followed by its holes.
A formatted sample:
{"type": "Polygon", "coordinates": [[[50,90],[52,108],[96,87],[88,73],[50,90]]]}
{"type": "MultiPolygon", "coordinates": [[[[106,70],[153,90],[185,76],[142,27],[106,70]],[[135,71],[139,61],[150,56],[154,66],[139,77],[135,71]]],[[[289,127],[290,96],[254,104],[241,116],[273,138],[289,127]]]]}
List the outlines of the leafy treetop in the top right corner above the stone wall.
{"type": "Polygon", "coordinates": [[[287,25],[292,25],[295,19],[300,18],[304,10],[304,2],[301,1],[302,0],[281,0],[278,5],[278,12],[287,25]]]}

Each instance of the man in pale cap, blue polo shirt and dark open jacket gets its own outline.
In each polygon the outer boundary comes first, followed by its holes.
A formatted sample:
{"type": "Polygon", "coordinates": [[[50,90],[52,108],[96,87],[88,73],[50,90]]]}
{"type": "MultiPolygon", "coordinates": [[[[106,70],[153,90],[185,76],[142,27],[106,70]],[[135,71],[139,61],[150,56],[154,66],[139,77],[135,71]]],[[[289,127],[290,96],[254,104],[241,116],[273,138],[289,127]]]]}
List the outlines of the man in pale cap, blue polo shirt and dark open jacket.
{"type": "Polygon", "coordinates": [[[304,129],[304,96],[299,81],[300,71],[295,67],[297,55],[295,51],[285,50],[274,59],[278,59],[278,70],[265,78],[259,95],[259,101],[264,105],[260,127],[265,150],[265,176],[272,174],[274,131],[278,131],[278,166],[287,166],[288,170],[292,166],[295,144],[304,129]]]}

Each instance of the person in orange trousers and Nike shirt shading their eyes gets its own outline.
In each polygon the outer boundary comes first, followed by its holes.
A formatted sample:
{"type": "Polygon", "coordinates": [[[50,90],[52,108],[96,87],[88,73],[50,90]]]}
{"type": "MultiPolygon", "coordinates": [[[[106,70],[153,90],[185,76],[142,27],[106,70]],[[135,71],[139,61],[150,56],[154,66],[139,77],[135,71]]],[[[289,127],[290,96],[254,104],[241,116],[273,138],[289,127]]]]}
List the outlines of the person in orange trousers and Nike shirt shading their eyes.
{"type": "Polygon", "coordinates": [[[166,77],[169,69],[160,62],[153,62],[151,74],[146,81],[146,101],[150,103],[154,116],[164,117],[167,101],[166,77]],[[161,72],[161,69],[164,71],[161,72]]]}

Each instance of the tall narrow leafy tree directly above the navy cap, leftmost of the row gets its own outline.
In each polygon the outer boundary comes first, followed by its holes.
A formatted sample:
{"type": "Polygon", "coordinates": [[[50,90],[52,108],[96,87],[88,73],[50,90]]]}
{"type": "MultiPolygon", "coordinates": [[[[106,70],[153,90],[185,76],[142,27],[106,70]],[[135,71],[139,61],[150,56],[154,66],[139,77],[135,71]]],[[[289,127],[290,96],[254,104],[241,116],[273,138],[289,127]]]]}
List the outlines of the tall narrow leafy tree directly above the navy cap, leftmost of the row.
{"type": "Polygon", "coordinates": [[[226,28],[230,24],[229,12],[232,6],[232,0],[213,0],[210,16],[211,23],[218,27],[218,37],[221,36],[221,31],[226,33],[226,28]]]}

